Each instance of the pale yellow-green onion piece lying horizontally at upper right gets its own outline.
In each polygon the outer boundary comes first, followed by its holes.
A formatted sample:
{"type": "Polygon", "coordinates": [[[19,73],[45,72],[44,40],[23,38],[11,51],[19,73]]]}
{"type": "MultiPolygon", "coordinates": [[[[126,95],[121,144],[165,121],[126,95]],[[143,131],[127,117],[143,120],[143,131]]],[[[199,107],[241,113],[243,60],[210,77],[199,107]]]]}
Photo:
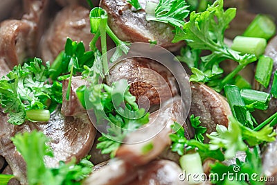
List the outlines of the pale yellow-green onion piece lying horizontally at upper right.
{"type": "Polygon", "coordinates": [[[258,57],[265,52],[266,46],[267,40],[264,38],[237,36],[233,40],[231,49],[240,51],[242,54],[255,54],[258,57]]]}

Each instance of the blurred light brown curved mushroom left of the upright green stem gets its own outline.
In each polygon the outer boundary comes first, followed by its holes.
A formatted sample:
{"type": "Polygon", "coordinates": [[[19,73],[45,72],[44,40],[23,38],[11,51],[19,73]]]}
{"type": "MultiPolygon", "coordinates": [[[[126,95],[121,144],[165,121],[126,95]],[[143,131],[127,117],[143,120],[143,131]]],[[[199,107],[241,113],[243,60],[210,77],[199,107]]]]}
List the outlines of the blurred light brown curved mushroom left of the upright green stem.
{"type": "Polygon", "coordinates": [[[90,33],[89,10],[82,6],[67,6],[57,13],[51,27],[41,43],[42,58],[53,62],[64,50],[66,37],[73,41],[82,41],[86,50],[93,35],[90,33]]]}

